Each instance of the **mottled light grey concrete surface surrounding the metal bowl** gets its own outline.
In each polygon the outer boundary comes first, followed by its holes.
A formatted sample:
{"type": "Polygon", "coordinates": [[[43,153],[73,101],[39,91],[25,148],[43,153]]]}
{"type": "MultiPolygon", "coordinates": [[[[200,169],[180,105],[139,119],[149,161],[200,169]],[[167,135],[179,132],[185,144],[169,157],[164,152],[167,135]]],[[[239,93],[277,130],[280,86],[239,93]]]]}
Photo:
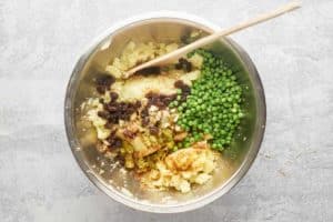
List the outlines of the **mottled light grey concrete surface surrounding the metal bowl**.
{"type": "Polygon", "coordinates": [[[133,14],[180,10],[226,27],[286,0],[0,0],[0,221],[333,221],[333,1],[233,36],[268,100],[260,154],[214,203],[159,215],[115,203],[80,172],[64,135],[67,81],[84,47],[133,14]]]}

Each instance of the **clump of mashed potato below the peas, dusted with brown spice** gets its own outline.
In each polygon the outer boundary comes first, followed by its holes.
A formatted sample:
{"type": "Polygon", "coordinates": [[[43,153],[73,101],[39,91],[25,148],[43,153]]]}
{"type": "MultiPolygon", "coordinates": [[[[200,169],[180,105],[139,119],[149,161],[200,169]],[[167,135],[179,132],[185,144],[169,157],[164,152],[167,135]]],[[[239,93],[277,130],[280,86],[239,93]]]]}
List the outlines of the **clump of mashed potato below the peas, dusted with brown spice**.
{"type": "Polygon", "coordinates": [[[209,149],[188,148],[169,154],[157,163],[157,169],[145,173],[141,182],[148,188],[174,188],[182,193],[191,191],[191,184],[203,184],[216,168],[215,153],[209,149]]]}

